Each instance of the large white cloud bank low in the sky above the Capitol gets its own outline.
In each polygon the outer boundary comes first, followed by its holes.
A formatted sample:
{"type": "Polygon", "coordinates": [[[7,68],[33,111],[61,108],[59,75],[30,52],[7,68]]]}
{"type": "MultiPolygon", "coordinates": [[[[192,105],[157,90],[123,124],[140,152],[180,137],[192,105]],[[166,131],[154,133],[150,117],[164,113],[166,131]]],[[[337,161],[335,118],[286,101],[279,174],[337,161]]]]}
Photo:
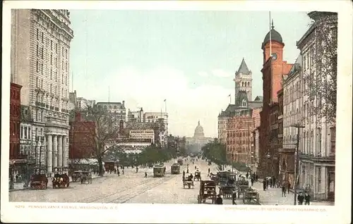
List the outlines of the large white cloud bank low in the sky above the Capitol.
{"type": "Polygon", "coordinates": [[[195,89],[188,86],[186,75],[173,68],[157,68],[142,72],[134,68],[117,70],[102,79],[99,86],[78,89],[78,95],[87,99],[107,101],[125,100],[126,108],[135,111],[164,111],[167,99],[169,133],[192,136],[200,120],[205,136],[217,137],[217,116],[229,103],[232,89],[215,85],[203,85],[195,89]],[[94,90],[94,91],[93,91],[94,90]]]}

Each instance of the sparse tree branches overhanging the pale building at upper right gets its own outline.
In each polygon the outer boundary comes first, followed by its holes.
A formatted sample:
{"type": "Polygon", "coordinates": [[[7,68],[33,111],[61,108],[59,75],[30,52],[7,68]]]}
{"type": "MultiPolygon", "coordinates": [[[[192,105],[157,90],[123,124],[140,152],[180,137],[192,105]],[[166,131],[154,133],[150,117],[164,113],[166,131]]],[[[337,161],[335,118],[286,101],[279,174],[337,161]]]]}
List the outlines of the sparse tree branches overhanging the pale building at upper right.
{"type": "MultiPolygon", "coordinates": [[[[310,13],[309,13],[309,16],[310,13]]],[[[319,12],[312,16],[315,45],[310,63],[315,63],[309,80],[309,100],[316,98],[311,113],[335,123],[337,102],[337,13],[319,12]]]]}

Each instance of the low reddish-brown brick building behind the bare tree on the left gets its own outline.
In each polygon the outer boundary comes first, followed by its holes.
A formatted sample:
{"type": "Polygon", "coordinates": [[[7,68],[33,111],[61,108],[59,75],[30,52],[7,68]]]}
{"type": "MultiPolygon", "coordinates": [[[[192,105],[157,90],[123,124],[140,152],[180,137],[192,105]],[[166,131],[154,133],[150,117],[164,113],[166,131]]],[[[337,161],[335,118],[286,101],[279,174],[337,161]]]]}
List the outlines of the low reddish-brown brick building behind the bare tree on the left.
{"type": "Polygon", "coordinates": [[[94,132],[95,123],[83,120],[81,114],[76,112],[68,132],[68,158],[95,158],[94,132]]]}

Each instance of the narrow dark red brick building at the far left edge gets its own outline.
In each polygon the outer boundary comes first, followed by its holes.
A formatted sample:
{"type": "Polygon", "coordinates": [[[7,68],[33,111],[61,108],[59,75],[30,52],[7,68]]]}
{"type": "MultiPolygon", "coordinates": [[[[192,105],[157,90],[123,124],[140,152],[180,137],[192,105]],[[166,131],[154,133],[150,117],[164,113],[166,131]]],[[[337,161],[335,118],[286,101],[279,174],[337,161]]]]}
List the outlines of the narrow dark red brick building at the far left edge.
{"type": "Polygon", "coordinates": [[[10,86],[10,161],[24,159],[20,154],[20,89],[11,82],[10,86]]]}

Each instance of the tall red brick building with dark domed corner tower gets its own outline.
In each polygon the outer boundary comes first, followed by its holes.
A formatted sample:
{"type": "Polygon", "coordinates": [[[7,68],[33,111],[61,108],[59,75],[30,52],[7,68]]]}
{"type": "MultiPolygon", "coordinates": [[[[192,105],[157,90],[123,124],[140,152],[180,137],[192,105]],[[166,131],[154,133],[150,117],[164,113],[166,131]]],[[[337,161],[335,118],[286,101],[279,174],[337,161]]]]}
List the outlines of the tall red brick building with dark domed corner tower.
{"type": "MultiPolygon", "coordinates": [[[[289,73],[292,64],[287,64],[283,61],[283,48],[285,44],[282,42],[282,37],[274,27],[268,32],[263,40],[261,49],[263,49],[263,109],[260,113],[260,149],[259,149],[259,166],[261,177],[265,175],[273,175],[271,172],[271,163],[277,163],[276,147],[271,147],[271,120],[270,115],[274,116],[278,108],[277,92],[282,89],[282,75],[289,73]],[[271,39],[270,39],[271,32],[271,39]],[[275,106],[275,108],[273,108],[275,106]]],[[[274,121],[273,121],[274,122],[274,121]]],[[[272,128],[275,127],[273,123],[272,128]]],[[[272,143],[274,144],[274,143],[272,143]]],[[[277,172],[274,170],[273,172],[277,172]]]]}

